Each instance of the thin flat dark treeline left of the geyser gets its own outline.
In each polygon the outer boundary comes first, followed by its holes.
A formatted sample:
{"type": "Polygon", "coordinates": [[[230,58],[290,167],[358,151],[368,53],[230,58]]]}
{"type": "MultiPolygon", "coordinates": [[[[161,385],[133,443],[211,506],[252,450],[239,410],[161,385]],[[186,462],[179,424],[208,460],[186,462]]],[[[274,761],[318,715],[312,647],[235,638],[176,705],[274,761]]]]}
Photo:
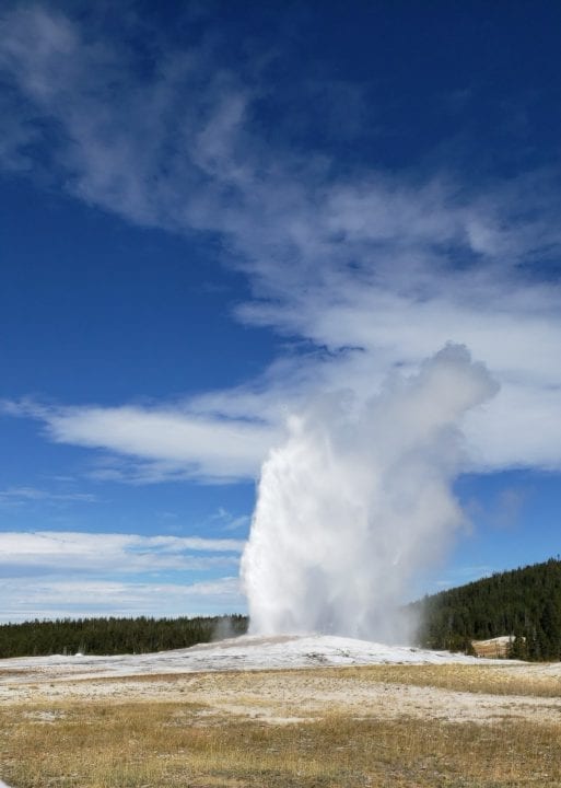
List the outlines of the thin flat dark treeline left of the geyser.
{"type": "Polygon", "coordinates": [[[197,618],[63,618],[0,625],[0,658],[147,653],[247,631],[242,615],[197,618]]]}

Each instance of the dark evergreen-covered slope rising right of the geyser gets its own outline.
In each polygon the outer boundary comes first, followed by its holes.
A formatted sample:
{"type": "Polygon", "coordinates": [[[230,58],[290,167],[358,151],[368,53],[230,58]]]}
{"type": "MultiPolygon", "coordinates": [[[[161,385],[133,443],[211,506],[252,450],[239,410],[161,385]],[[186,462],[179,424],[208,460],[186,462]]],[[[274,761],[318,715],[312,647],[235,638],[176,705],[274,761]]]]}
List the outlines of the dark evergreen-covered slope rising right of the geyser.
{"type": "Polygon", "coordinates": [[[471,640],[512,635],[510,657],[561,660],[561,560],[550,558],[425,596],[411,607],[423,622],[419,644],[471,650],[471,640]]]}

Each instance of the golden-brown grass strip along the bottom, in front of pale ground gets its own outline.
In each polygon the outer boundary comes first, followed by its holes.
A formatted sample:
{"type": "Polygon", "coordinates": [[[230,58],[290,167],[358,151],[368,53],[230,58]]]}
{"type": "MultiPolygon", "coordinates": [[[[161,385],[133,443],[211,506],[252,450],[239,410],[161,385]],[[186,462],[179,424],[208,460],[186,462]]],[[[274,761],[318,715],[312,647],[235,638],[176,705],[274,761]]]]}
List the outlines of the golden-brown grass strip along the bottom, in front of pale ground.
{"type": "Polygon", "coordinates": [[[206,721],[183,704],[4,709],[2,762],[14,788],[191,786],[559,786],[560,726],[326,716],[267,726],[206,721]]]}

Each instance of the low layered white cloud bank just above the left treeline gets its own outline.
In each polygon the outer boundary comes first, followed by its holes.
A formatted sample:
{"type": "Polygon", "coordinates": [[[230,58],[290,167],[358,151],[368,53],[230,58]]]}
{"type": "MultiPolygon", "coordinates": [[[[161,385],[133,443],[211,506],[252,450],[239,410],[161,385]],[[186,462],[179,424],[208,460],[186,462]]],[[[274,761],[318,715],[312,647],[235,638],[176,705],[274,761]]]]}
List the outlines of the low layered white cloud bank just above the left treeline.
{"type": "Polygon", "coordinates": [[[0,621],[239,612],[245,603],[235,576],[244,545],[199,536],[3,532],[0,621]],[[208,579],[187,580],[194,573],[208,579]]]}

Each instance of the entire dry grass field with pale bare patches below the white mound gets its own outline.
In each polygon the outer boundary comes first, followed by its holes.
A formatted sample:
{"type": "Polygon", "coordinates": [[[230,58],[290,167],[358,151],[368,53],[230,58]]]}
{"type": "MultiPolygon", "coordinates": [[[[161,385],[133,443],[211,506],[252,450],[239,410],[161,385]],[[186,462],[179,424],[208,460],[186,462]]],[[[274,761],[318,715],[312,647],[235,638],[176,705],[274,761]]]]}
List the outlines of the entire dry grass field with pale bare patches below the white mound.
{"type": "Polygon", "coordinates": [[[375,665],[0,684],[12,788],[561,785],[561,679],[375,665]]]}

